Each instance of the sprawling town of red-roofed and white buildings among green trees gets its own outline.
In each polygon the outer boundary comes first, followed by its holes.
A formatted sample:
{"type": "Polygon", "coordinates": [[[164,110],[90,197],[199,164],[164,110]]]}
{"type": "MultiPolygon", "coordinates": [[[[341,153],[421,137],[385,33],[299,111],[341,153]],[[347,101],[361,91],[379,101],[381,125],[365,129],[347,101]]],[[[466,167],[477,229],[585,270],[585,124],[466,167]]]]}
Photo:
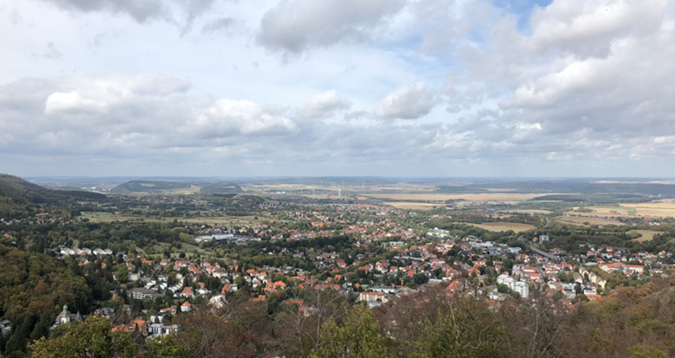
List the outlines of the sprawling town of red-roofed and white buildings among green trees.
{"type": "MultiPolygon", "coordinates": [[[[237,227],[180,227],[177,223],[174,229],[187,233],[185,246],[198,248],[187,253],[158,255],[59,244],[50,249],[50,255],[109,271],[116,289],[88,314],[116,322],[113,330],[138,331],[147,337],[175,334],[180,330],[174,323],[176,315],[189,314],[197,306],[220,308],[242,293],[251,302],[271,297],[289,302],[305,315],[316,310],[297,297],[306,289],[335,291],[372,308],[433,286],[442,287],[447,295],[483,300],[493,310],[503,302],[528,300],[535,292],[571,309],[577,302],[601,299],[613,288],[674,272],[669,251],[581,244],[583,252],[568,253],[550,245],[554,235],[530,232],[513,240],[515,234],[510,232],[484,240],[473,231],[426,228],[410,220],[428,215],[429,223],[456,226],[450,224],[452,216],[447,213],[306,200],[286,206],[292,209],[280,204],[274,208],[282,221],[237,227]],[[242,255],[251,245],[249,257],[242,255]],[[539,247],[550,249],[545,252],[539,247]],[[239,252],[238,260],[230,258],[233,252],[239,252]]],[[[265,204],[264,209],[271,206],[265,204]]],[[[495,215],[482,209],[463,210],[495,215]]],[[[22,223],[7,226],[17,224],[22,223]]],[[[74,223],[55,220],[52,224],[74,223]]],[[[6,240],[12,238],[4,235],[6,240]]],[[[52,329],[83,319],[85,315],[64,305],[52,329]]],[[[10,322],[4,320],[3,332],[11,331],[10,322]]]]}

